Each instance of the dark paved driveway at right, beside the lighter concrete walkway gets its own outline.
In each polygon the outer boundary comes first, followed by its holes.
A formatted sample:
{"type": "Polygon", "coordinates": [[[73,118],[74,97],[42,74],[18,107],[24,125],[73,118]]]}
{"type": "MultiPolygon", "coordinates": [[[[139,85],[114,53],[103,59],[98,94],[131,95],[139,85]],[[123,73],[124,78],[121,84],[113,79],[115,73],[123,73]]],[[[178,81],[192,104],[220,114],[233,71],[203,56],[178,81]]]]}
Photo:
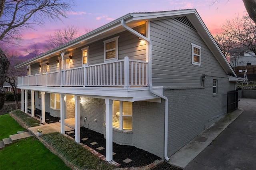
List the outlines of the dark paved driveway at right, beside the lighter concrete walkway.
{"type": "Polygon", "coordinates": [[[240,99],[242,114],[184,170],[255,170],[256,99],[240,99]]]}

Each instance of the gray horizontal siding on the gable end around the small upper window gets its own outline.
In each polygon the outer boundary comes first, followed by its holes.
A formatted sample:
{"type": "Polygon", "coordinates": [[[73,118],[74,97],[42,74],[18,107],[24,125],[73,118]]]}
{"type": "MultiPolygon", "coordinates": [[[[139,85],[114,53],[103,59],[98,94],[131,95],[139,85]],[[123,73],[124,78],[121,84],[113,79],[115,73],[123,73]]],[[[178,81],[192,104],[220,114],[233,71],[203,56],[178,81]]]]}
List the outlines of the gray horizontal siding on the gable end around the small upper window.
{"type": "Polygon", "coordinates": [[[202,74],[226,73],[198,33],[177,20],[150,22],[152,82],[155,86],[200,86],[202,74]],[[201,65],[191,63],[191,43],[201,46],[201,65]]]}

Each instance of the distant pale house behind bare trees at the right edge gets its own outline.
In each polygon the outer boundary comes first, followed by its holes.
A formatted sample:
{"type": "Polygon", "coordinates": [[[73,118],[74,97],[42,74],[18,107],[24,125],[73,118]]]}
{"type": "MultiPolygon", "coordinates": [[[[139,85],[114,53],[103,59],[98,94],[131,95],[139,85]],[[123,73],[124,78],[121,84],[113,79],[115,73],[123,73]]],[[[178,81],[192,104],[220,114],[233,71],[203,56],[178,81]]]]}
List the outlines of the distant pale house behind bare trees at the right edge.
{"type": "Polygon", "coordinates": [[[230,65],[232,67],[246,66],[246,65],[256,65],[255,53],[247,50],[238,51],[237,49],[232,49],[230,51],[230,65]]]}

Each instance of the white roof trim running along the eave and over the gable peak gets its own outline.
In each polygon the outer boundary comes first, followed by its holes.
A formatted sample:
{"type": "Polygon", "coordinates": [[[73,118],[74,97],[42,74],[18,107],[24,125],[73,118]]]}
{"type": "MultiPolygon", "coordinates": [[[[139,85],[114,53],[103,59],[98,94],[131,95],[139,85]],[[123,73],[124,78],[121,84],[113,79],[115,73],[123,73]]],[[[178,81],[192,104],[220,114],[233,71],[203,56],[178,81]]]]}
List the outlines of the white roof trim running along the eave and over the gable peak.
{"type": "Polygon", "coordinates": [[[87,34],[84,34],[83,36],[80,36],[79,38],[76,38],[75,40],[72,40],[68,43],[65,43],[63,45],[60,45],[59,47],[56,47],[50,51],[47,51],[46,53],[43,53],[41,55],[38,55],[28,61],[25,61],[24,63],[21,63],[16,66],[16,68],[22,67],[24,65],[28,65],[29,63],[33,63],[35,61],[38,61],[40,59],[43,59],[45,57],[48,57],[50,55],[59,54],[61,50],[67,49],[69,47],[72,47],[74,45],[78,45],[81,42],[84,42],[86,40],[88,41],[95,41],[98,39],[99,36],[103,35],[106,32],[109,32],[113,29],[120,29],[123,30],[121,26],[121,21],[125,20],[126,24],[129,24],[134,21],[148,21],[148,20],[160,20],[163,18],[174,18],[179,16],[186,16],[190,22],[193,24],[193,26],[196,28],[198,34],[202,37],[206,45],[208,45],[209,49],[212,51],[220,65],[223,67],[227,75],[232,75],[236,77],[236,73],[232,69],[231,65],[228,63],[226,57],[223,55],[222,51],[218,47],[217,43],[215,42],[214,38],[206,28],[204,22],[200,18],[198,12],[195,9],[189,9],[189,10],[174,10],[174,11],[163,11],[163,12],[146,12],[146,13],[130,13],[125,16],[122,16],[121,18],[118,18],[96,30],[93,30],[92,32],[89,32],[87,34]]]}

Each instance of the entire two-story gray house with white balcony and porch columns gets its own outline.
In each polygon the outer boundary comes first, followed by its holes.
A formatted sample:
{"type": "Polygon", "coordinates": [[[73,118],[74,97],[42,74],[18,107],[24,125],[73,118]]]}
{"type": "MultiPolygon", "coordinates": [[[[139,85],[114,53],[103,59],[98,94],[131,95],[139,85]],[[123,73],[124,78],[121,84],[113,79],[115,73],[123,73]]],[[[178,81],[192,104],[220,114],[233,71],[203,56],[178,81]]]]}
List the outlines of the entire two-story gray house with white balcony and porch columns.
{"type": "Polygon", "coordinates": [[[73,118],[78,143],[80,126],[104,134],[108,161],[112,141],[168,160],[226,115],[239,81],[194,9],[127,14],[26,65],[32,116],[60,117],[61,133],[73,118]]]}

